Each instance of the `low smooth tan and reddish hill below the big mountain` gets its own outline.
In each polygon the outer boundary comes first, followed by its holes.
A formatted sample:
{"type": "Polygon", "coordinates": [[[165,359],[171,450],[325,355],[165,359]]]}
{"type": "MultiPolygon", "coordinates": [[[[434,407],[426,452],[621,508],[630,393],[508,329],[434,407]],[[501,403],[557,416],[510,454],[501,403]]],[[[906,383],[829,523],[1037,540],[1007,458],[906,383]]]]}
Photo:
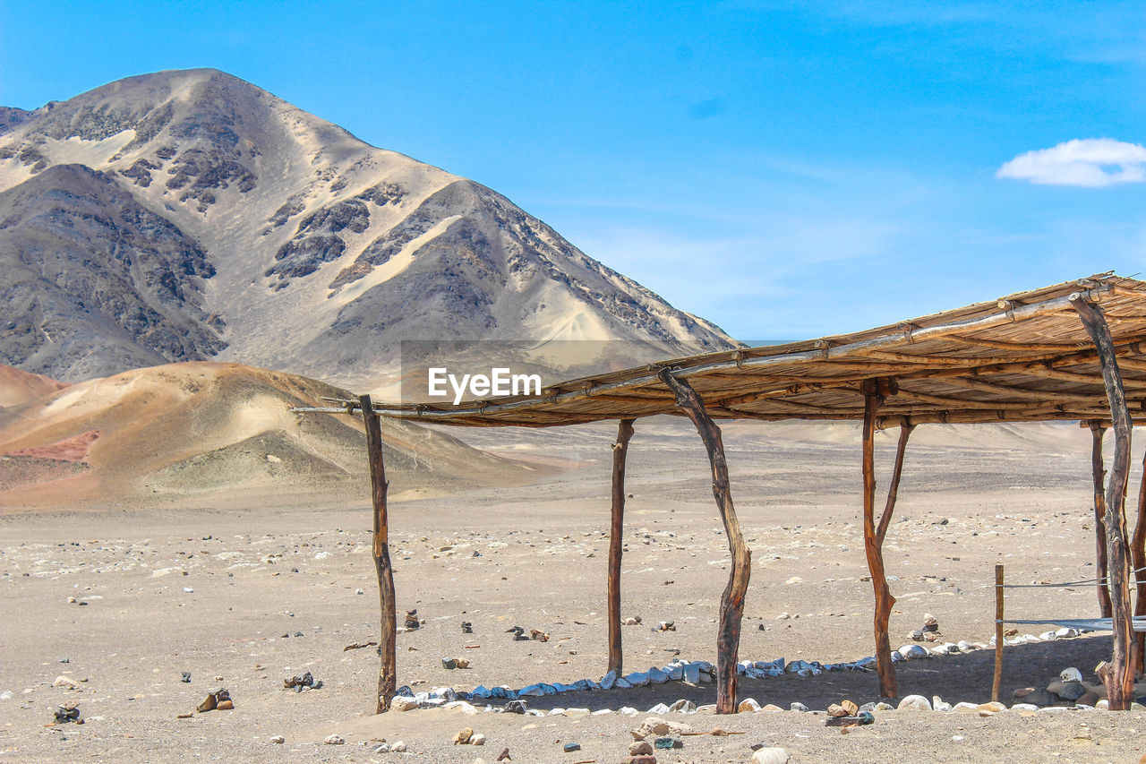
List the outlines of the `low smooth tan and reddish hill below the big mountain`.
{"type": "MultiPolygon", "coordinates": [[[[0,392],[8,376],[0,367],[0,392]]],[[[280,500],[360,500],[369,485],[361,419],[290,411],[347,395],[220,362],[52,388],[0,408],[0,505],[133,505],[238,489],[280,500]]],[[[547,470],[398,420],[383,422],[383,441],[392,498],[525,482],[547,470]]]]}

